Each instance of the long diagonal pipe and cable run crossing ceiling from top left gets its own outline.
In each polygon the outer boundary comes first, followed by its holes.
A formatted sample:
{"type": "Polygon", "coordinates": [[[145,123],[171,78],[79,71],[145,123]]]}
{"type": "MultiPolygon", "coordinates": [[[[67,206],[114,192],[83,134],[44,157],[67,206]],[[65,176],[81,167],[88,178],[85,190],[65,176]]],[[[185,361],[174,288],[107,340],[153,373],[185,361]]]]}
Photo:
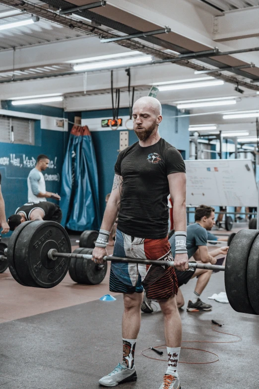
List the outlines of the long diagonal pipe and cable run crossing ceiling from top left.
{"type": "MultiPolygon", "coordinates": [[[[28,1],[23,1],[23,0],[0,0],[0,3],[7,5],[8,7],[13,7],[17,9],[21,9],[23,11],[27,11],[29,13],[33,13],[34,15],[40,16],[42,18],[45,18],[49,21],[53,21],[56,23],[59,23],[65,27],[68,28],[73,28],[82,32],[86,32],[92,36],[96,36],[99,38],[115,38],[119,37],[119,35],[112,34],[108,31],[106,31],[103,28],[93,26],[90,23],[87,22],[82,22],[78,20],[74,20],[70,17],[60,15],[57,12],[53,12],[49,8],[45,8],[40,5],[36,5],[33,3],[30,3],[28,1]]],[[[145,45],[140,42],[132,41],[132,40],[123,40],[123,41],[118,41],[117,43],[120,46],[127,47],[128,49],[131,50],[138,50],[141,51],[145,54],[152,55],[154,57],[160,58],[162,60],[168,60],[169,57],[172,58],[172,60],[176,59],[178,56],[171,54],[169,52],[165,52],[159,49],[155,49],[153,47],[150,47],[148,45],[145,45]]],[[[204,66],[200,66],[198,64],[195,64],[187,59],[183,59],[182,61],[178,62],[178,65],[184,66],[186,68],[190,68],[196,71],[199,70],[209,70],[209,68],[206,68],[204,66]]],[[[244,81],[242,79],[236,78],[234,76],[227,76],[219,73],[211,73],[211,76],[214,78],[222,79],[226,82],[232,83],[232,84],[237,84],[239,83],[239,86],[246,87],[248,89],[252,90],[259,90],[259,85],[255,85],[253,83],[244,81]]],[[[29,79],[29,78],[27,78],[29,79]]]]}

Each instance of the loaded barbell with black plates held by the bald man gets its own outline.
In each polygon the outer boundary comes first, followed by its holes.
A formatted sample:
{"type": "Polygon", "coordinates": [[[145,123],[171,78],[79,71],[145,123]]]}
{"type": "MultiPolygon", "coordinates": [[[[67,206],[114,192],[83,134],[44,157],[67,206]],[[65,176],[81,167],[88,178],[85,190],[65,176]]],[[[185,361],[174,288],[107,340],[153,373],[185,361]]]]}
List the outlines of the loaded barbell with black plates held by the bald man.
{"type": "MultiPolygon", "coordinates": [[[[259,231],[241,230],[232,239],[226,265],[189,263],[193,269],[225,272],[225,288],[231,307],[259,314],[259,231]]],[[[56,222],[29,221],[12,233],[6,250],[10,272],[21,285],[53,288],[65,277],[71,259],[90,261],[91,254],[71,253],[65,229],[56,222]]],[[[107,261],[174,266],[173,261],[105,256],[107,261]]],[[[91,261],[92,262],[92,261],[91,261]]]]}

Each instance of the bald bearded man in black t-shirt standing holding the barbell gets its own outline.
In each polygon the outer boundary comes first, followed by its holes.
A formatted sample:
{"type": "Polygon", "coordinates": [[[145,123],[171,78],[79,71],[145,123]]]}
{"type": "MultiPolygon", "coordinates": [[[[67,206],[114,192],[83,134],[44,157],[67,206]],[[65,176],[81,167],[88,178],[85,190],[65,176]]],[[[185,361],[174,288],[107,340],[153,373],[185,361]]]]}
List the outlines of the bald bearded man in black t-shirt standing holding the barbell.
{"type": "MultiPolygon", "coordinates": [[[[119,211],[115,256],[172,260],[168,241],[169,193],[174,202],[176,229],[175,267],[189,268],[186,249],[186,173],[181,154],[158,132],[162,121],[161,104],[153,97],[142,97],[133,106],[133,129],[139,142],[122,151],[115,165],[115,177],[92,259],[103,262],[106,245],[119,211]],[[120,208],[120,210],[119,210],[120,208]]],[[[135,259],[134,259],[135,260],[135,259]]],[[[137,260],[136,260],[137,261],[137,260]]],[[[155,261],[156,262],[156,261],[155,261]]],[[[182,326],[176,306],[177,278],[174,267],[112,262],[110,291],[124,294],[123,363],[99,383],[106,387],[136,381],[134,350],[140,328],[140,306],[145,288],[157,299],[164,315],[168,368],[160,389],[179,389],[177,366],[182,326]],[[173,356],[173,361],[172,361],[173,356]]]]}

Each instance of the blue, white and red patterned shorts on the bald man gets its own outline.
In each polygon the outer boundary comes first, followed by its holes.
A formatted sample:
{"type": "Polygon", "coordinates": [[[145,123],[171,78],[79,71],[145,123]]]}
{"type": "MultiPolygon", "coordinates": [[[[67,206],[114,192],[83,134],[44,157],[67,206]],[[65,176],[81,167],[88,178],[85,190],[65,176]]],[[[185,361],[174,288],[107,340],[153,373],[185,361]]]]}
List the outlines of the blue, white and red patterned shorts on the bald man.
{"type": "MultiPolygon", "coordinates": [[[[143,239],[127,235],[117,229],[114,256],[172,261],[168,237],[143,239]]],[[[141,293],[148,299],[169,299],[177,294],[178,283],[174,267],[112,262],[110,291],[141,293]]]]}

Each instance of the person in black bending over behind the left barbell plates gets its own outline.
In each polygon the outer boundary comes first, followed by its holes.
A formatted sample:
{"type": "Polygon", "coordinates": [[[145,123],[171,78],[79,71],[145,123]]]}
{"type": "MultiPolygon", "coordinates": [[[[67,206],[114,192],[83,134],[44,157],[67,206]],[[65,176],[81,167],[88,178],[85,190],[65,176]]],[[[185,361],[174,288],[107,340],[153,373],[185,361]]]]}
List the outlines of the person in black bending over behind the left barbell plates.
{"type": "Polygon", "coordinates": [[[34,220],[48,220],[61,223],[61,208],[50,201],[38,201],[36,203],[26,203],[17,208],[14,215],[9,216],[8,225],[14,231],[21,223],[34,220]]]}

